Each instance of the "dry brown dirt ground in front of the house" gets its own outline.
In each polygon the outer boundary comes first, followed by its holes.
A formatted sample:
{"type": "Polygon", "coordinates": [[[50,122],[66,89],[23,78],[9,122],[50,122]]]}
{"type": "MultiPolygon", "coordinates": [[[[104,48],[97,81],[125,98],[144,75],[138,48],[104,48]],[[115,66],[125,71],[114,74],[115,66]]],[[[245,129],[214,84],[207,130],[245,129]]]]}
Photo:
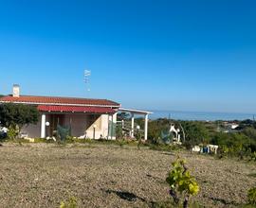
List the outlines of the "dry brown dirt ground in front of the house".
{"type": "MultiPolygon", "coordinates": [[[[59,207],[71,197],[79,207],[153,207],[169,199],[167,172],[177,152],[137,147],[50,144],[0,147],[0,206],[59,207]]],[[[179,153],[206,207],[244,203],[256,183],[256,165],[179,153]]]]}

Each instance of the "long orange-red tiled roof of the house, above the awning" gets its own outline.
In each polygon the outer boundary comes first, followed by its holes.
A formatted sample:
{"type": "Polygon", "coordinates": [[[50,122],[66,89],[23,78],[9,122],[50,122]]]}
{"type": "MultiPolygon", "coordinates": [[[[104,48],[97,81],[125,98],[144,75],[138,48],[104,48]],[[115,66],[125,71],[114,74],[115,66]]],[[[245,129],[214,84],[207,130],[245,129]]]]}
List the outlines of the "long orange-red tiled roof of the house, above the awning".
{"type": "Polygon", "coordinates": [[[87,99],[76,97],[59,97],[59,96],[30,96],[21,95],[13,97],[12,95],[3,96],[0,102],[15,102],[27,104],[44,104],[44,105],[73,105],[73,106],[111,106],[119,107],[119,103],[107,99],[87,99]]]}

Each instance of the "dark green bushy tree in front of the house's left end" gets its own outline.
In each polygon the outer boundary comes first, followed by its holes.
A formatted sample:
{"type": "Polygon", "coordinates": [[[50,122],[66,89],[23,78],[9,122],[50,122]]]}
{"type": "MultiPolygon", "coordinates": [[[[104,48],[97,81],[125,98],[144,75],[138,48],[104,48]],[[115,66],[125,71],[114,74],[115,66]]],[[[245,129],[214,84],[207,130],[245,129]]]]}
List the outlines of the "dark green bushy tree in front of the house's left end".
{"type": "Polygon", "coordinates": [[[34,106],[5,103],[0,105],[1,124],[15,130],[17,134],[28,124],[38,122],[39,112],[34,106]]]}

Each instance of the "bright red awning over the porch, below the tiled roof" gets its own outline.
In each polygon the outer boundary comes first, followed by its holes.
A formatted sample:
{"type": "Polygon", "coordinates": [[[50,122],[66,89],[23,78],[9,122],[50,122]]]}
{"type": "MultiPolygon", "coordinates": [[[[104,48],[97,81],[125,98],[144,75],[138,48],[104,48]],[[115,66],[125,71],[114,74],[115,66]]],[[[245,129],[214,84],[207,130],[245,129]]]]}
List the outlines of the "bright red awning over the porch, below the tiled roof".
{"type": "Polygon", "coordinates": [[[112,108],[107,107],[90,107],[90,106],[55,106],[55,105],[39,105],[37,107],[40,112],[55,113],[116,113],[112,108]]]}

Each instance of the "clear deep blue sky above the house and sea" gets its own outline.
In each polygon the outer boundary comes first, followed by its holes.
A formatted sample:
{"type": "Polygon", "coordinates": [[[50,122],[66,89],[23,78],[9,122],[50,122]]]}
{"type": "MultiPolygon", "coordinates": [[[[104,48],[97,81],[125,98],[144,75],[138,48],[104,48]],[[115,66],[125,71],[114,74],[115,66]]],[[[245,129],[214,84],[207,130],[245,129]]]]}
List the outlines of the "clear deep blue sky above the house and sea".
{"type": "Polygon", "coordinates": [[[255,10],[253,0],[0,0],[0,94],[19,83],[23,95],[256,113],[255,10]]]}

